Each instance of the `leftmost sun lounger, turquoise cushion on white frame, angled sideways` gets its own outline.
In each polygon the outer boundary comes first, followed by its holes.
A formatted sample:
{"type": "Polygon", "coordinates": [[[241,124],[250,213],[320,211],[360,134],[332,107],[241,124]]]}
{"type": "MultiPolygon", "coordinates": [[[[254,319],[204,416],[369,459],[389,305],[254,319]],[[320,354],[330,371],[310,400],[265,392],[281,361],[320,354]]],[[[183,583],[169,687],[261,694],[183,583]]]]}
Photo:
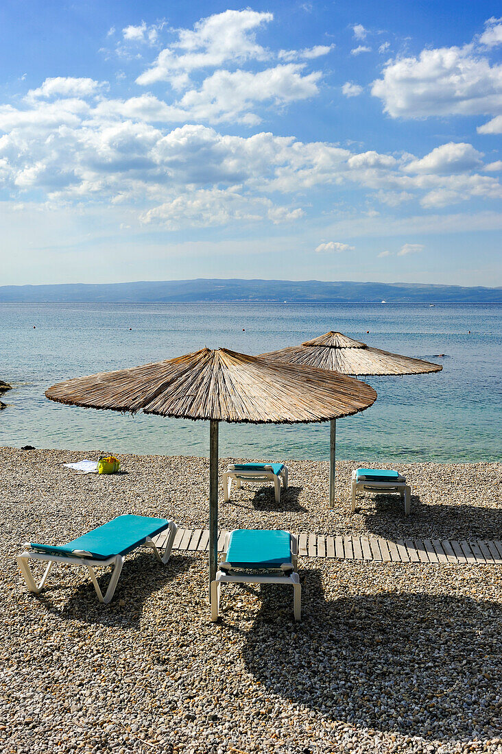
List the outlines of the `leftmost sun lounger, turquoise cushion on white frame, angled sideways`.
{"type": "Polygon", "coordinates": [[[112,599],[117,581],[119,581],[124,556],[131,553],[136,547],[151,547],[159,562],[167,563],[171,556],[171,547],[173,546],[176,532],[176,524],[165,519],[134,515],[117,516],[117,518],[103,524],[103,526],[98,526],[97,529],[93,529],[91,532],[82,535],[82,537],[78,537],[62,546],[28,542],[24,545],[26,549],[17,556],[17,565],[21,569],[29,591],[35,594],[39,594],[42,591],[55,562],[86,566],[91,575],[97,599],[100,602],[108,603],[112,599]],[[167,539],[165,541],[164,553],[161,556],[156,544],[152,541],[152,537],[165,532],[166,529],[167,539]],[[32,572],[29,569],[29,560],[48,562],[42,581],[38,585],[35,583],[32,572]],[[96,566],[115,566],[104,597],[97,583],[96,573],[94,572],[96,566]]]}

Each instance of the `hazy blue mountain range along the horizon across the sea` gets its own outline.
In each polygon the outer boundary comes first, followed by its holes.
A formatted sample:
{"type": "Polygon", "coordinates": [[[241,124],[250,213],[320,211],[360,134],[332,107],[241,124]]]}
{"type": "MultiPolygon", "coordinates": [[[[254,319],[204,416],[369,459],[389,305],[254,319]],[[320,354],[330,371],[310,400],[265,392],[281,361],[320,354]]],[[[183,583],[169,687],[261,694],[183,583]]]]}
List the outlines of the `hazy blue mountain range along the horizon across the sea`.
{"type": "Polygon", "coordinates": [[[322,280],[165,280],[164,282],[0,286],[0,302],[32,303],[500,303],[502,287],[322,280]]]}

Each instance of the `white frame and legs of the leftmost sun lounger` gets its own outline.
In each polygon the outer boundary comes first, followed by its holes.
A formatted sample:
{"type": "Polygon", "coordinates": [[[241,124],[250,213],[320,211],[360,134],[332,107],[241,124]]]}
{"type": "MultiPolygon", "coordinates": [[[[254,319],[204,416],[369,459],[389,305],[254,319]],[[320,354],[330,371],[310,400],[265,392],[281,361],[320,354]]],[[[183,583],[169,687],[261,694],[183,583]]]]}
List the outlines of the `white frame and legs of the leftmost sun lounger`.
{"type": "MultiPolygon", "coordinates": [[[[162,555],[161,553],[159,553],[159,549],[151,537],[146,537],[145,541],[142,544],[138,545],[138,547],[151,548],[159,563],[162,563],[164,565],[171,557],[171,549],[173,547],[174,537],[177,532],[177,526],[175,523],[170,521],[169,526],[167,526],[166,529],[163,529],[163,532],[165,532],[166,530],[168,531],[168,539],[165,543],[164,553],[162,555]]],[[[160,533],[162,534],[162,532],[160,533]]],[[[93,557],[91,553],[88,553],[85,550],[73,550],[73,555],[56,555],[53,553],[42,553],[38,552],[38,550],[33,550],[29,542],[24,544],[23,547],[26,547],[26,550],[24,550],[23,553],[20,553],[20,555],[17,556],[17,565],[20,567],[21,574],[23,575],[24,581],[26,581],[26,586],[28,587],[30,592],[34,594],[40,594],[42,592],[45,581],[47,580],[47,577],[51,572],[51,568],[54,563],[74,563],[75,566],[85,566],[88,569],[89,575],[91,576],[91,581],[94,584],[94,589],[97,593],[97,599],[99,599],[100,602],[104,602],[106,605],[111,602],[112,597],[115,593],[117,581],[119,581],[122,566],[124,565],[123,555],[115,555],[111,558],[107,558],[106,560],[101,560],[99,558],[93,557]],[[29,568],[29,560],[42,560],[47,562],[48,564],[39,584],[37,584],[35,582],[35,579],[33,578],[32,572],[29,568]],[[108,588],[106,589],[106,594],[104,597],[103,593],[100,590],[100,585],[97,583],[96,572],[94,571],[96,566],[115,566],[112,571],[112,575],[110,577],[108,588]]]]}

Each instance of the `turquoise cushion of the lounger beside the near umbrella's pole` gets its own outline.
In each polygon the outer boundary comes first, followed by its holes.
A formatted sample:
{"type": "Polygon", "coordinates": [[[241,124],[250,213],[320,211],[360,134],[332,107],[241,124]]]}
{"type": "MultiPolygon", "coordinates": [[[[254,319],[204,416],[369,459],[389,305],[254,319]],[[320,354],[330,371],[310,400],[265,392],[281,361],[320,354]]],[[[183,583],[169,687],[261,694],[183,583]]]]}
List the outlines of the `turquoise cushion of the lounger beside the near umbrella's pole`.
{"type": "Polygon", "coordinates": [[[237,529],[232,532],[226,562],[238,568],[280,568],[291,563],[291,535],[281,530],[237,529]]]}

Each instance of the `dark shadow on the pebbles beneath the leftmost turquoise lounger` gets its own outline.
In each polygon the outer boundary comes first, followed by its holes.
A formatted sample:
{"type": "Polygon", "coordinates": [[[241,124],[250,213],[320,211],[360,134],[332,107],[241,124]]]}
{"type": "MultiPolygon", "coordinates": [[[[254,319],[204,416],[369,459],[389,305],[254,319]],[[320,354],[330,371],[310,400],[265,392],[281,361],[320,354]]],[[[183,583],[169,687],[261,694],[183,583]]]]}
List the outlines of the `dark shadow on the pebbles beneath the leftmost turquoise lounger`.
{"type": "MultiPolygon", "coordinates": [[[[159,566],[150,553],[140,553],[134,558],[125,559],[119,584],[108,605],[98,602],[84,569],[80,571],[83,580],[77,584],[79,576],[75,566],[66,566],[61,569],[61,575],[66,571],[64,584],[55,582],[53,585],[48,581],[42,594],[35,599],[42,602],[49,612],[63,619],[76,619],[102,626],[138,628],[147,599],[191,566],[192,559],[177,555],[171,556],[165,566],[159,566]]],[[[97,583],[103,593],[108,586],[111,571],[111,568],[106,567],[97,572],[97,583]]]]}

